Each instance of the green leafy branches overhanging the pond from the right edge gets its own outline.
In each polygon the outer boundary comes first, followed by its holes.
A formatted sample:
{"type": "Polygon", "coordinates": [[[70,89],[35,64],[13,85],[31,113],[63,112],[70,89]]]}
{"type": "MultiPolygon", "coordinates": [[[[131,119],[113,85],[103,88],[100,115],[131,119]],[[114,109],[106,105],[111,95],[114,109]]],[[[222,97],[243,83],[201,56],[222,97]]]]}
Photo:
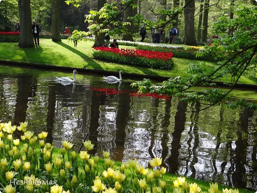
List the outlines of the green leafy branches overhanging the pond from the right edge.
{"type": "MultiPolygon", "coordinates": [[[[139,92],[151,91],[165,93],[171,96],[183,97],[187,101],[199,101],[209,106],[214,104],[225,104],[229,93],[234,89],[238,80],[243,74],[256,73],[256,52],[257,52],[257,6],[240,6],[235,11],[233,20],[222,16],[220,21],[215,23],[215,33],[220,39],[215,39],[213,46],[205,46],[200,49],[198,56],[210,55],[218,60],[212,69],[206,68],[203,63],[192,64],[188,67],[191,78],[171,78],[164,81],[162,85],[153,85],[147,81],[132,84],[138,87],[139,92]],[[229,30],[233,34],[228,35],[229,30]],[[231,77],[229,91],[222,91],[212,88],[213,82],[222,77],[231,77]],[[143,87],[141,87],[143,86],[143,87]],[[190,88],[196,86],[208,86],[210,89],[203,90],[203,93],[188,93],[190,88]]],[[[226,103],[228,107],[244,105],[251,109],[257,109],[257,105],[246,103],[244,100],[226,103]]]]}

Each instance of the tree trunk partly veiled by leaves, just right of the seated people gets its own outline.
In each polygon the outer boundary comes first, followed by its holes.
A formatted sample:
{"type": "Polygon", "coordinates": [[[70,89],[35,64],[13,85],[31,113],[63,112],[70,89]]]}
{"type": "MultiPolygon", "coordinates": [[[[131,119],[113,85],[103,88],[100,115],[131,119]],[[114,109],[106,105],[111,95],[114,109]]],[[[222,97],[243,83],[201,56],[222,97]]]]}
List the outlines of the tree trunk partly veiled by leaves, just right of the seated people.
{"type": "MultiPolygon", "coordinates": [[[[132,2],[133,4],[137,4],[137,0],[134,0],[132,2]]],[[[132,6],[128,6],[127,9],[124,11],[124,22],[129,22],[130,25],[126,25],[125,28],[128,30],[128,31],[134,31],[135,30],[135,26],[134,26],[134,22],[133,20],[131,19],[128,19],[128,17],[133,17],[137,14],[137,7],[132,7],[132,6]]],[[[122,40],[125,40],[125,41],[131,41],[133,42],[133,36],[131,34],[124,34],[122,36],[122,40]]]]}

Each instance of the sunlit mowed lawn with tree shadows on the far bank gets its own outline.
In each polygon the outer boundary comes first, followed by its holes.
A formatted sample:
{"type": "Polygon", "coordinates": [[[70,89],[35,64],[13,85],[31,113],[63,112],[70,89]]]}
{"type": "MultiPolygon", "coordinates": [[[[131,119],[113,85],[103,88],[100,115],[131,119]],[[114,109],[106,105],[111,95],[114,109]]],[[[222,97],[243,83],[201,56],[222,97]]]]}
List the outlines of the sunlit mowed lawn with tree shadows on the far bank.
{"type": "MultiPolygon", "coordinates": [[[[116,63],[103,62],[95,60],[92,57],[93,42],[79,42],[74,48],[72,42],[62,40],[54,43],[51,39],[40,39],[40,47],[19,48],[18,43],[0,43],[0,60],[26,62],[34,64],[45,64],[54,66],[68,66],[73,68],[87,68],[104,71],[119,71],[125,73],[142,74],[151,76],[164,77],[189,77],[186,73],[190,63],[200,63],[200,60],[175,58],[173,57],[174,67],[171,70],[158,70],[144,67],[122,65],[116,63]]],[[[133,48],[120,46],[120,48],[133,48]]],[[[214,67],[212,62],[206,62],[211,69],[214,67]]],[[[220,81],[229,82],[230,77],[223,78],[220,81]]],[[[239,81],[241,84],[256,85],[257,80],[248,77],[242,77],[239,81]]]]}

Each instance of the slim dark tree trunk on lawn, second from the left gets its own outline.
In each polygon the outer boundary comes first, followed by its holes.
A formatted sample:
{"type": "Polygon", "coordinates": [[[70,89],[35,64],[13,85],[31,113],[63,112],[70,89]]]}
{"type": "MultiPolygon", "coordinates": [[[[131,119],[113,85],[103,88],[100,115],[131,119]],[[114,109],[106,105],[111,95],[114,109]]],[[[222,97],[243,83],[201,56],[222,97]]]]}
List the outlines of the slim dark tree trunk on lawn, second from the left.
{"type": "Polygon", "coordinates": [[[52,3],[52,41],[60,42],[60,5],[61,0],[53,0],[52,3]]]}

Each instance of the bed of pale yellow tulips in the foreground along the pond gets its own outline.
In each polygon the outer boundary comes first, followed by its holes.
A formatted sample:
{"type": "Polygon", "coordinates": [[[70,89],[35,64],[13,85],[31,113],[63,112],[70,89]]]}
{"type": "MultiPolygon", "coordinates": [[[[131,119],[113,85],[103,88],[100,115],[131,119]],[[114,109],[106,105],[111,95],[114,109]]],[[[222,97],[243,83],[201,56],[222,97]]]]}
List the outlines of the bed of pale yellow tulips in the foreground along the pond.
{"type": "MultiPolygon", "coordinates": [[[[0,192],[5,193],[166,193],[166,168],[160,167],[162,158],[153,158],[153,169],[144,168],[137,160],[121,165],[103,151],[104,163],[88,154],[94,145],[86,141],[86,151],[72,151],[73,144],[63,141],[63,148],[53,156],[53,147],[46,143],[46,132],[35,136],[27,130],[27,122],[20,126],[0,123],[0,192]],[[19,134],[15,131],[19,130],[19,134]],[[21,134],[21,135],[20,135],[21,134]],[[15,136],[20,136],[16,138],[15,136]],[[53,158],[54,157],[54,158],[53,158]]],[[[171,185],[169,185],[171,187],[171,185]]],[[[173,192],[200,193],[201,188],[185,178],[173,181],[173,192]]],[[[170,192],[171,190],[169,190],[170,192]]],[[[217,193],[218,185],[210,184],[209,193],[217,193]]],[[[238,190],[223,189],[224,193],[238,190]]]]}

